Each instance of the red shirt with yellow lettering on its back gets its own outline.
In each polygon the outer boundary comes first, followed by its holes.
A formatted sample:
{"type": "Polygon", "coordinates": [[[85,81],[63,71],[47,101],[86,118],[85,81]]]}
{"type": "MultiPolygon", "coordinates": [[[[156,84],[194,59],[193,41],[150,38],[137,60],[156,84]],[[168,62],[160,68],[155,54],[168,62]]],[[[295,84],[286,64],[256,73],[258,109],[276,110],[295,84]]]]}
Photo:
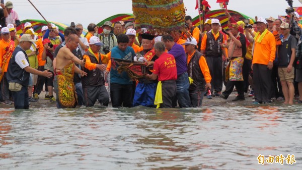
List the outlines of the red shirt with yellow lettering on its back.
{"type": "Polygon", "coordinates": [[[159,81],[176,80],[177,70],[173,55],[164,52],[154,63],[153,73],[158,75],[159,81]]]}

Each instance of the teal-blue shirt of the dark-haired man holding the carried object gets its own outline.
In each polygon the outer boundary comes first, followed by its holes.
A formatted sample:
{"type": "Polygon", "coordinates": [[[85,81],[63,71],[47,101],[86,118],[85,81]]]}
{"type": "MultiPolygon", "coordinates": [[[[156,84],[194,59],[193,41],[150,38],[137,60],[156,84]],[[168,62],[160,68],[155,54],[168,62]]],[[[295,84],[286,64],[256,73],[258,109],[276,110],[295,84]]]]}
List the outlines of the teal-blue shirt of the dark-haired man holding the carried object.
{"type": "MultiPolygon", "coordinates": [[[[132,47],[127,46],[125,51],[119,49],[118,46],[115,46],[111,49],[111,58],[112,59],[122,59],[133,61],[135,56],[135,52],[132,47]]],[[[132,84],[132,80],[130,80],[128,74],[126,72],[122,72],[119,74],[117,72],[118,65],[113,69],[113,64],[111,64],[110,69],[110,83],[118,83],[118,84],[132,84]]]]}

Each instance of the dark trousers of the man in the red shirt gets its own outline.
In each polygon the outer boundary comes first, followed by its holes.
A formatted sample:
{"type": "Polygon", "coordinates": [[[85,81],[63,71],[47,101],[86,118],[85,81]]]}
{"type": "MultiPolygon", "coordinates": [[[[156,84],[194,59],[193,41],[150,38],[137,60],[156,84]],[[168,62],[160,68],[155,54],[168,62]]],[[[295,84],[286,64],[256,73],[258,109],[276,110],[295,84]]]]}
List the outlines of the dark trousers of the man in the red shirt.
{"type": "Polygon", "coordinates": [[[163,107],[173,107],[172,102],[176,98],[177,87],[175,80],[166,80],[162,82],[163,107]]]}

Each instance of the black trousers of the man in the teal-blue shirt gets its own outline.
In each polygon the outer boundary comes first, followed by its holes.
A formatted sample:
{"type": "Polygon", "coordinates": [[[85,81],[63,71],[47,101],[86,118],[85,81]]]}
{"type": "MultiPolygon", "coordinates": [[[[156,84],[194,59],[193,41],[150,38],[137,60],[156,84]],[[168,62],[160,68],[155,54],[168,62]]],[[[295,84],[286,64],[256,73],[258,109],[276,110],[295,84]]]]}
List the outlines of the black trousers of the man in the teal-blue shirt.
{"type": "Polygon", "coordinates": [[[112,107],[132,107],[132,84],[110,84],[112,107]]]}

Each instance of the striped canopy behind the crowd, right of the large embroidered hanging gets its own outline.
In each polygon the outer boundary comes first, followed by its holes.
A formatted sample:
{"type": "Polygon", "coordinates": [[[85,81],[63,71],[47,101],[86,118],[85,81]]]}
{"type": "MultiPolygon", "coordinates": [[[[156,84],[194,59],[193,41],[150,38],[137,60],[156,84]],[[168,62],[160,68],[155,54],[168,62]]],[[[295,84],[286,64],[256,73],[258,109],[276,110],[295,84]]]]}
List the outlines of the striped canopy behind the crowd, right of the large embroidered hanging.
{"type": "MultiPolygon", "coordinates": [[[[232,10],[228,10],[228,12],[230,13],[230,15],[236,20],[236,21],[240,21],[242,20],[241,18],[250,18],[242,13],[239,13],[237,11],[232,11],[232,10]]],[[[216,18],[220,21],[220,24],[221,24],[221,27],[223,29],[226,29],[228,28],[228,16],[225,15],[225,10],[213,10],[213,11],[209,11],[205,14],[205,19],[211,19],[211,18],[216,18]]],[[[202,17],[201,17],[202,19],[202,17]]],[[[252,18],[250,18],[252,19],[252,18]]],[[[255,20],[252,19],[254,22],[255,20]]],[[[201,23],[202,23],[202,20],[201,20],[201,23]]],[[[192,19],[192,24],[194,26],[199,26],[200,25],[200,22],[199,22],[199,16],[195,17],[192,19]]]]}

